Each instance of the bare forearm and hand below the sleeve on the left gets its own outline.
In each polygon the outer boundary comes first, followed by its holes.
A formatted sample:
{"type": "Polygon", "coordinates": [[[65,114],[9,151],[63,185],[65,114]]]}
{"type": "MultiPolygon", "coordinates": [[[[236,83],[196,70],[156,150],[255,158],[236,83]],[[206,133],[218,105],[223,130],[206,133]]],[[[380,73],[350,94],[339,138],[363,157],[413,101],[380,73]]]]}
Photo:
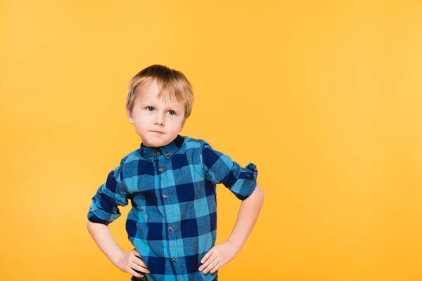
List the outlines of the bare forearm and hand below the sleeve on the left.
{"type": "Polygon", "coordinates": [[[135,270],[150,273],[136,249],[125,253],[117,244],[108,226],[87,221],[87,228],[98,247],[117,268],[136,277],[142,277],[143,275],[135,270]]]}

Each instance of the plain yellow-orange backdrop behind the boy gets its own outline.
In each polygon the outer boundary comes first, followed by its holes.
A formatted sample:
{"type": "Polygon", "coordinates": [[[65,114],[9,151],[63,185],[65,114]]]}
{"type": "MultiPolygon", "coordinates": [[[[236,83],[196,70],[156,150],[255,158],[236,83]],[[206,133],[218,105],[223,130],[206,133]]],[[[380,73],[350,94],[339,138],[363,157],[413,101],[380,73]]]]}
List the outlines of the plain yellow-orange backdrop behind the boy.
{"type": "MultiPolygon", "coordinates": [[[[139,147],[126,87],[155,63],[193,84],[182,134],[259,169],[222,280],[422,280],[421,1],[0,3],[0,280],[129,280],[86,214],[139,147]]],[[[222,242],[240,202],[217,190],[222,242]]]]}

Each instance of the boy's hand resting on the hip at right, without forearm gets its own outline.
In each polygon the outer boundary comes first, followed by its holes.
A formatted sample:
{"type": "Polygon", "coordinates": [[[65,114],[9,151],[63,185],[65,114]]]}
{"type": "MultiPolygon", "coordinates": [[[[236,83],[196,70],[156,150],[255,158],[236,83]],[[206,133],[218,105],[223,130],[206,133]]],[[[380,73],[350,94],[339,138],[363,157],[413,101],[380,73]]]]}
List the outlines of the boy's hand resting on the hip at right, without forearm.
{"type": "Polygon", "coordinates": [[[207,274],[208,272],[215,273],[222,268],[224,264],[229,263],[229,261],[234,259],[239,250],[240,249],[229,241],[215,245],[205,254],[203,259],[200,260],[202,266],[199,267],[199,271],[202,271],[204,274],[207,274]]]}

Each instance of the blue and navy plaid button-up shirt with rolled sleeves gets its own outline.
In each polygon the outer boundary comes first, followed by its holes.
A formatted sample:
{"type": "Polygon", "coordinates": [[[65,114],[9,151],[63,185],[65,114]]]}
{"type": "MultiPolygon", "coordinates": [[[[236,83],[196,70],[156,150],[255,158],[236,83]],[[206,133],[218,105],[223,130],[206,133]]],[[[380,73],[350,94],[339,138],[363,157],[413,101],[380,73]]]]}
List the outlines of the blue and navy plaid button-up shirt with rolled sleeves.
{"type": "Polygon", "coordinates": [[[203,140],[177,136],[162,148],[141,144],[108,174],[88,218],[108,225],[131,200],[126,230],[151,270],[150,280],[212,280],[216,273],[198,268],[215,244],[216,184],[245,200],[256,178],[254,164],[242,168],[203,140]]]}

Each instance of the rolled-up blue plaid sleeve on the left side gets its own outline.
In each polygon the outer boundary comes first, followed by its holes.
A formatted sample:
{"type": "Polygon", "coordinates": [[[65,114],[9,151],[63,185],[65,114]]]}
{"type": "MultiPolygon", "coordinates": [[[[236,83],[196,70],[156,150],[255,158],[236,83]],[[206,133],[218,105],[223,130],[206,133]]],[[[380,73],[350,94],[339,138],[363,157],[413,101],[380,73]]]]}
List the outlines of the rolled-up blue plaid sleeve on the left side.
{"type": "Polygon", "coordinates": [[[119,206],[127,206],[127,191],[122,183],[121,166],[110,171],[106,183],[103,183],[92,197],[88,211],[89,221],[108,226],[121,215],[119,206]]]}

